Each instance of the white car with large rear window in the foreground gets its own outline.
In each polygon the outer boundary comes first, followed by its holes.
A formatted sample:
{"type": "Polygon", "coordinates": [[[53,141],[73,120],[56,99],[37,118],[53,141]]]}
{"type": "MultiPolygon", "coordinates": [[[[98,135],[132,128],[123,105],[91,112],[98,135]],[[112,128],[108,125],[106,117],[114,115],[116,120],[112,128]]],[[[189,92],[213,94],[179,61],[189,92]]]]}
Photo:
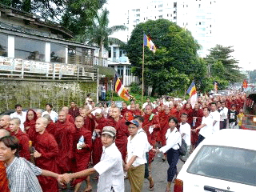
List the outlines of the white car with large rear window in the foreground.
{"type": "Polygon", "coordinates": [[[219,130],[182,166],[174,192],[256,191],[256,130],[219,130]]]}

